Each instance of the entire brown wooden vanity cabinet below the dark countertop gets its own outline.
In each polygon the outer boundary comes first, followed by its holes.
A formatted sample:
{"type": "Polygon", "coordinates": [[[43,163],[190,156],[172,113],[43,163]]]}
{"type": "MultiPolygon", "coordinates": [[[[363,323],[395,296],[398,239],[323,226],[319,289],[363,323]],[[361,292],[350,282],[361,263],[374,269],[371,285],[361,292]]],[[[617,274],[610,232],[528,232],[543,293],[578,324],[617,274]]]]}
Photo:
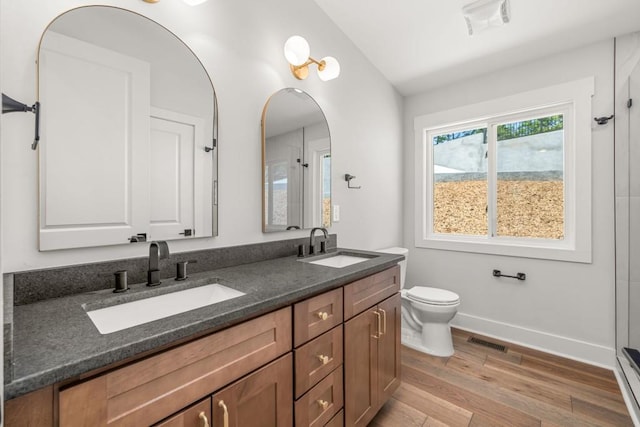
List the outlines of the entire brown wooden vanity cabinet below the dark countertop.
{"type": "Polygon", "coordinates": [[[5,425],[365,426],[400,382],[399,284],[392,267],[74,385],[37,390],[7,402],[5,425]]]}

